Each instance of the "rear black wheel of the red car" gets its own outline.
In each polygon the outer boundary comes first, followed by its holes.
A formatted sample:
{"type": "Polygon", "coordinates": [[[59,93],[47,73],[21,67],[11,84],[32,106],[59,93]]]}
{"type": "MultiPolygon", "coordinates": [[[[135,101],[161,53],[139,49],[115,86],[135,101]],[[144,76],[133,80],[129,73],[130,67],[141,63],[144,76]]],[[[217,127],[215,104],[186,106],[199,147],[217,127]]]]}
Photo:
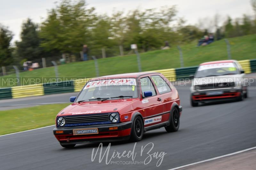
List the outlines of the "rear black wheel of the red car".
{"type": "Polygon", "coordinates": [[[164,127],[167,132],[177,132],[180,127],[180,113],[175,107],[171,113],[171,122],[169,126],[164,127]]]}

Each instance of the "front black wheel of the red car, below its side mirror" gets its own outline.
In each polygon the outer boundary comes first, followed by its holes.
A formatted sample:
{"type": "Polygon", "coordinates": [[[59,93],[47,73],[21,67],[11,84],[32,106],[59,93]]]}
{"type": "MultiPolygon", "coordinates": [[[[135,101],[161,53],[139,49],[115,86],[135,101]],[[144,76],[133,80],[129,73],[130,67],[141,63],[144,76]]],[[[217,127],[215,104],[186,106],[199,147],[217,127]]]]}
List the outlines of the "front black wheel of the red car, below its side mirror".
{"type": "Polygon", "coordinates": [[[137,142],[142,139],[144,133],[144,125],[140,116],[136,116],[132,122],[132,132],[130,141],[137,142]]]}

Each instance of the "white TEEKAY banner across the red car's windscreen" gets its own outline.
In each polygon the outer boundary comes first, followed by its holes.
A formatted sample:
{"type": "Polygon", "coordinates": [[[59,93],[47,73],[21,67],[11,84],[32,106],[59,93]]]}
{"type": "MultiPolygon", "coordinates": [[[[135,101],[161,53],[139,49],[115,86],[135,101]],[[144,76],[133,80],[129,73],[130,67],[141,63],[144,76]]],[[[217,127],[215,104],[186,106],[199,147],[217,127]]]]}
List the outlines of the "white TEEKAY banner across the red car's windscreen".
{"type": "Polygon", "coordinates": [[[118,86],[118,85],[131,85],[136,86],[136,79],[134,78],[123,78],[123,79],[109,79],[99,81],[89,81],[84,89],[100,86],[118,86]]]}

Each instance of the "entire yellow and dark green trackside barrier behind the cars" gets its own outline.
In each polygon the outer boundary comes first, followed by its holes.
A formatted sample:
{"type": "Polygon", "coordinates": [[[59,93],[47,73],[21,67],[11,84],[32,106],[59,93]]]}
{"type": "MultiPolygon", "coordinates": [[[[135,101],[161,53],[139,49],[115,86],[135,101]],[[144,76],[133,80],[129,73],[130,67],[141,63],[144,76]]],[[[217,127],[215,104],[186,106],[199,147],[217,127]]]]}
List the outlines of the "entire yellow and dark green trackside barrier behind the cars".
{"type": "MultiPolygon", "coordinates": [[[[238,61],[245,73],[256,72],[256,59],[238,61]]],[[[154,70],[152,72],[162,73],[169,81],[180,80],[181,78],[189,78],[189,75],[195,74],[198,66],[183,67],[183,68],[170,68],[163,70],[154,70]]],[[[35,84],[25,86],[15,86],[10,88],[0,88],[0,100],[42,96],[49,94],[79,92],[87,81],[91,78],[76,79],[70,81],[53,82],[46,84],[35,84]]]]}

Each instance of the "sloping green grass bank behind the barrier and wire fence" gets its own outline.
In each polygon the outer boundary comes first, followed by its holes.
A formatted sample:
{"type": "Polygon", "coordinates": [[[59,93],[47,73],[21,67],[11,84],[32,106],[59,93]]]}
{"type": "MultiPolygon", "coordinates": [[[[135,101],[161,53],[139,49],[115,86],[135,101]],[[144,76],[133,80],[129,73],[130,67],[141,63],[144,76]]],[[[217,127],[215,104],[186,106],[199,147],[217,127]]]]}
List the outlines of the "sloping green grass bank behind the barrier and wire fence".
{"type": "MultiPolygon", "coordinates": [[[[256,34],[229,38],[232,59],[244,60],[256,58],[256,34]]],[[[225,40],[216,41],[207,46],[196,47],[196,42],[180,46],[183,53],[184,66],[197,66],[202,62],[228,59],[225,40]]],[[[180,54],[176,46],[169,50],[154,50],[140,54],[142,71],[152,71],[180,67],[180,54]]],[[[100,76],[118,73],[138,72],[137,57],[135,54],[98,59],[100,76]]],[[[62,80],[72,78],[95,77],[94,61],[73,62],[58,66],[59,77],[62,80]],[[64,78],[65,77],[65,78],[64,78]]],[[[41,68],[34,71],[20,73],[22,85],[33,84],[30,78],[38,78],[36,83],[49,82],[55,78],[54,67],[41,68]]],[[[15,74],[0,77],[1,86],[15,86],[8,84],[7,79],[16,77],[15,74]]]]}

